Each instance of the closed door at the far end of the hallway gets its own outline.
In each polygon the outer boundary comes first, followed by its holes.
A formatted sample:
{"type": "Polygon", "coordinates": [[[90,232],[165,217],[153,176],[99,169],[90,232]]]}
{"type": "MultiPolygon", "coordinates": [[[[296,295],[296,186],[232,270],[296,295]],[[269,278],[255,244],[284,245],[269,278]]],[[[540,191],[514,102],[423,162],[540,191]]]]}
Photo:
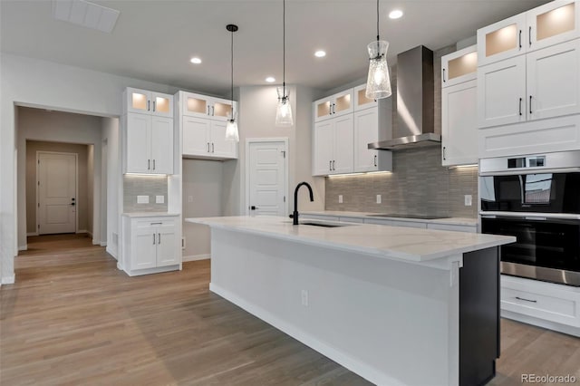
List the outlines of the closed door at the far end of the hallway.
{"type": "Polygon", "coordinates": [[[76,232],[76,154],[38,153],[38,234],[76,232]]]}

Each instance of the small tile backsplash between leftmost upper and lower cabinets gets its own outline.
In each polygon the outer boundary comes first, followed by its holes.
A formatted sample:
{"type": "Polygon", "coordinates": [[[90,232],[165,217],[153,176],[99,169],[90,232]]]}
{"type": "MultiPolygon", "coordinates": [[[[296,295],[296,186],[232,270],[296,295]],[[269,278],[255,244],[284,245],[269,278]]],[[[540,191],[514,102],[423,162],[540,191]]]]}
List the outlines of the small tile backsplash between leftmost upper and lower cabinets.
{"type": "Polygon", "coordinates": [[[167,176],[123,176],[123,211],[167,212],[167,176]],[[149,197],[149,204],[138,204],[137,196],[149,197]],[[156,204],[157,196],[163,196],[163,204],[156,204]]]}

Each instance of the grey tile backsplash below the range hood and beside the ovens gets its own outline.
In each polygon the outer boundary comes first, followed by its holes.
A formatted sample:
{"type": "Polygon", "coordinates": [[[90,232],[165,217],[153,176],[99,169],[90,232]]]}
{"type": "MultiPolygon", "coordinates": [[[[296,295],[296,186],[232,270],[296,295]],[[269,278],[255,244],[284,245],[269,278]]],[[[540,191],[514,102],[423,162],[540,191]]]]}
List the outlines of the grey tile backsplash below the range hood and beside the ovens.
{"type": "Polygon", "coordinates": [[[325,209],[477,217],[477,167],[441,167],[440,146],[398,150],[392,156],[392,173],[326,178],[325,209]],[[382,196],[381,204],[376,203],[377,195],[382,196]],[[464,205],[465,195],[472,198],[470,207],[464,205]]]}

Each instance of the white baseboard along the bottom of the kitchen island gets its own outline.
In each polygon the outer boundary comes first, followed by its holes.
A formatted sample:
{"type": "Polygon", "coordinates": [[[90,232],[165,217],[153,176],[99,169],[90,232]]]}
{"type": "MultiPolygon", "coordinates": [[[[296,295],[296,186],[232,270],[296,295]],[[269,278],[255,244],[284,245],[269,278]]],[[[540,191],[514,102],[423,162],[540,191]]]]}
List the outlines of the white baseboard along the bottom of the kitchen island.
{"type": "Polygon", "coordinates": [[[266,311],[264,308],[257,306],[256,304],[247,302],[237,294],[234,294],[227,289],[220,287],[219,285],[209,283],[209,291],[213,292],[214,294],[218,294],[233,304],[236,304],[240,308],[246,310],[248,313],[255,315],[257,318],[268,324],[271,324],[283,333],[287,333],[288,335],[295,338],[295,340],[304,343],[316,352],[322,353],[324,356],[332,359],[334,362],[343,365],[343,367],[347,368],[351,372],[355,372],[362,376],[362,378],[366,379],[367,381],[372,381],[372,383],[379,385],[401,385],[401,381],[391,378],[384,373],[377,372],[371,366],[358,361],[357,359],[350,356],[347,352],[342,352],[324,342],[321,342],[312,334],[304,332],[304,330],[302,330],[300,327],[297,327],[291,323],[286,323],[282,319],[275,316],[275,314],[266,311]]]}

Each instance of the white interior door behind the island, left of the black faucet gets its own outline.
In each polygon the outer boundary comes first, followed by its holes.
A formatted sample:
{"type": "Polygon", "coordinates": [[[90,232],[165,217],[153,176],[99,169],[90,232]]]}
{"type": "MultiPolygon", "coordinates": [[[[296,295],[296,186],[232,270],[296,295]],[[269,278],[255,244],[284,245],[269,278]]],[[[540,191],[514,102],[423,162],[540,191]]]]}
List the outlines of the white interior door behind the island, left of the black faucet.
{"type": "Polygon", "coordinates": [[[285,216],[285,141],[249,143],[249,209],[258,216],[285,216]]]}

